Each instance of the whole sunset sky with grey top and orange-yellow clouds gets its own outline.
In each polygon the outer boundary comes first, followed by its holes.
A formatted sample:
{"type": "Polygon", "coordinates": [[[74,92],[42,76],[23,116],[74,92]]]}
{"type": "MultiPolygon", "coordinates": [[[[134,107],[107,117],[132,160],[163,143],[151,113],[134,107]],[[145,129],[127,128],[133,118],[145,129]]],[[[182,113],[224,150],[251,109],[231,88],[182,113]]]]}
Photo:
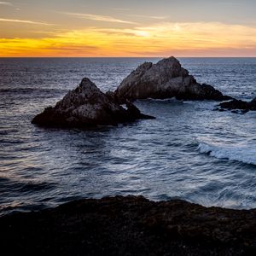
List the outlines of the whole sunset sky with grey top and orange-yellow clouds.
{"type": "Polygon", "coordinates": [[[255,0],[4,0],[0,57],[255,57],[255,13],[255,0]]]}

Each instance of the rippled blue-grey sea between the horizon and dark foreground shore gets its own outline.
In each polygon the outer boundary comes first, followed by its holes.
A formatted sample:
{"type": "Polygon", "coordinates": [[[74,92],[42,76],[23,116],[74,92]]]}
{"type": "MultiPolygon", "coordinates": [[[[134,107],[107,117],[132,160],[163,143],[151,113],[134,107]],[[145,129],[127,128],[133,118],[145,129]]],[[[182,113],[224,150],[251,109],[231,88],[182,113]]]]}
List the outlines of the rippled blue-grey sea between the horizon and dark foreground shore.
{"type": "MultiPolygon", "coordinates": [[[[83,131],[31,119],[84,77],[103,91],[150,58],[0,58],[0,214],[81,197],[144,195],[204,206],[256,207],[256,112],[218,102],[143,100],[156,119],[83,131]]],[[[200,83],[256,96],[256,58],[178,58],[200,83]]]]}

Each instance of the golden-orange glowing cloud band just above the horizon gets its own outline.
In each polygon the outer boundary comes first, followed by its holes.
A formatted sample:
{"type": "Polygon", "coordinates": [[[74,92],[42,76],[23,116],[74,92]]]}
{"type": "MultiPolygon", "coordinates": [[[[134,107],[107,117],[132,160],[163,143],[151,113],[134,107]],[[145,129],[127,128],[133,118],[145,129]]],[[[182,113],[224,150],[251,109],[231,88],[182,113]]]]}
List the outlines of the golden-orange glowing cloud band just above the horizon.
{"type": "Polygon", "coordinates": [[[256,27],[217,22],[87,27],[45,38],[0,38],[0,56],[255,56],[255,35],[256,27]]]}

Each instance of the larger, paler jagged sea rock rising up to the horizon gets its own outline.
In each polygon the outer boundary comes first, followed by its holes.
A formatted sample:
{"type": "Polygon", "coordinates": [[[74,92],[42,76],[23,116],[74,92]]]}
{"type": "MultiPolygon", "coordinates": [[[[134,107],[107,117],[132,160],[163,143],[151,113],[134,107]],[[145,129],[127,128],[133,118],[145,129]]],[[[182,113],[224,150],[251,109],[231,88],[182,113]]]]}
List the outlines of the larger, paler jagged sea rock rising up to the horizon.
{"type": "Polygon", "coordinates": [[[198,84],[174,57],[163,59],[156,64],[143,63],[125,78],[114,92],[114,99],[117,102],[125,102],[126,99],[134,101],[172,97],[183,100],[231,99],[209,84],[198,84]]]}

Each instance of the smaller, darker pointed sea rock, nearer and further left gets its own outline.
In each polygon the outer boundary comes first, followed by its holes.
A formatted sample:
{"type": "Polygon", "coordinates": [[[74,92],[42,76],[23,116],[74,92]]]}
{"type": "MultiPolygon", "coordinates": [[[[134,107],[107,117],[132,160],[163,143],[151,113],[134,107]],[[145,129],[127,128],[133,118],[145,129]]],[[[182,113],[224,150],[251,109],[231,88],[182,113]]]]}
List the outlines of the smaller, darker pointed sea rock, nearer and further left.
{"type": "Polygon", "coordinates": [[[45,108],[32,119],[33,124],[46,126],[95,126],[117,125],[136,119],[152,118],[140,113],[131,103],[127,109],[111,101],[90,79],[82,79],[81,84],[67,93],[55,107],[45,108]]]}

